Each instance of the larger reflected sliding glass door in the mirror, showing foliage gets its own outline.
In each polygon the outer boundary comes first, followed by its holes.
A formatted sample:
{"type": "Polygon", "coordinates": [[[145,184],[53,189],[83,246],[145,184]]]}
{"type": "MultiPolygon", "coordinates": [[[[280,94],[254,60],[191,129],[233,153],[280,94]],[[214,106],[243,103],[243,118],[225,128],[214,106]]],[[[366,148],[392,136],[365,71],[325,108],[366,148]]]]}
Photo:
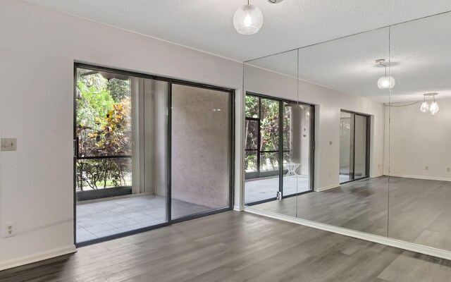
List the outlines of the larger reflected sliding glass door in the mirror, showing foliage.
{"type": "Polygon", "coordinates": [[[312,190],[313,107],[258,94],[245,104],[245,204],[312,190]]]}

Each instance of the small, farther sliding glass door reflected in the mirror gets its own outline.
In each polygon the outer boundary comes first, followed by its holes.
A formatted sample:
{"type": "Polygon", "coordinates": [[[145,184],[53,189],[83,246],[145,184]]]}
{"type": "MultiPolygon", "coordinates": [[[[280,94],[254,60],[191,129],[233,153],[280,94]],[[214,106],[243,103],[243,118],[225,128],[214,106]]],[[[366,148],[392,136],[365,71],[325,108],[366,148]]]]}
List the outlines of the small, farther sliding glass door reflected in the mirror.
{"type": "Polygon", "coordinates": [[[340,183],[369,176],[370,118],[340,112],[340,183]]]}

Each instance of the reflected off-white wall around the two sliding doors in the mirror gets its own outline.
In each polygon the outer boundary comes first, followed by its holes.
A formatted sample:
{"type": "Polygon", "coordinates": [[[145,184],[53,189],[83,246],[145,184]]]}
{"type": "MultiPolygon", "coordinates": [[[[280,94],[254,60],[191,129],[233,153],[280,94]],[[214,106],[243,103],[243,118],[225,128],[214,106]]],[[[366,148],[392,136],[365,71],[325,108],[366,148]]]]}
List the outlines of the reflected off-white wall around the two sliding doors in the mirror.
{"type": "Polygon", "coordinates": [[[381,176],[383,168],[383,104],[297,80],[262,68],[245,66],[245,89],[273,97],[315,104],[315,190],[339,185],[340,110],[373,115],[371,122],[370,176],[381,176]],[[332,142],[332,145],[329,145],[332,142]]]}

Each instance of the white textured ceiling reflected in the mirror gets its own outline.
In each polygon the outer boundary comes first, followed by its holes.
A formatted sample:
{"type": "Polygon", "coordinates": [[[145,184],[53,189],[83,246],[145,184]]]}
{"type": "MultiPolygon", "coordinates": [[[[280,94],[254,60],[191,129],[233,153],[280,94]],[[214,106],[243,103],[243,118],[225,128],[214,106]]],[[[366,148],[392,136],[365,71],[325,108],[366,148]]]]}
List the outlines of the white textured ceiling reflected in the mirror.
{"type": "Polygon", "coordinates": [[[450,98],[450,26],[451,13],[443,13],[393,25],[390,33],[385,27],[305,47],[299,49],[299,68],[297,51],[247,63],[380,102],[418,101],[426,92],[450,98]],[[388,58],[396,80],[391,93],[377,87],[384,68],[374,62],[388,58]]]}

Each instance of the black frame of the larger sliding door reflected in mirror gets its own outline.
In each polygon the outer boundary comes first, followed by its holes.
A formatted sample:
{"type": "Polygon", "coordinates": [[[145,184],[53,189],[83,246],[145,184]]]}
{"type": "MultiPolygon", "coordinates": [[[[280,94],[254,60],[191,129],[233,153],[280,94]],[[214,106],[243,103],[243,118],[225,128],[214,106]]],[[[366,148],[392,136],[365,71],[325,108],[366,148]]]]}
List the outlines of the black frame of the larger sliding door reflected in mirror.
{"type": "MultiPolygon", "coordinates": [[[[309,186],[310,186],[310,190],[308,191],[304,191],[304,192],[297,192],[295,194],[290,194],[290,195],[283,195],[283,152],[285,152],[283,150],[283,130],[279,130],[279,148],[278,151],[274,151],[274,152],[278,152],[279,153],[279,171],[277,176],[279,177],[279,192],[282,193],[282,199],[288,198],[288,197],[295,197],[298,195],[302,195],[302,194],[306,194],[309,192],[313,192],[314,191],[314,154],[315,154],[315,106],[314,104],[308,104],[308,103],[304,103],[304,102],[299,102],[299,101],[292,101],[289,99],[283,99],[283,98],[278,98],[278,97],[271,97],[265,94],[258,94],[255,92],[249,92],[247,91],[245,96],[254,96],[259,98],[259,120],[261,119],[261,99],[270,99],[273,101],[277,101],[279,102],[279,128],[283,128],[283,103],[287,103],[287,104],[299,104],[299,105],[304,105],[304,106],[310,106],[311,107],[311,112],[310,112],[310,150],[309,150],[309,166],[310,166],[310,179],[309,179],[309,186]]],[[[246,105],[244,105],[246,106],[246,105]]],[[[246,114],[244,116],[245,121],[249,120],[249,121],[254,121],[257,120],[257,118],[247,118],[246,114]]],[[[257,176],[260,176],[260,154],[259,154],[259,147],[260,147],[260,121],[259,121],[259,132],[258,132],[258,141],[257,141],[257,176]]],[[[246,136],[245,136],[246,138],[246,136]]],[[[254,149],[246,149],[244,148],[244,151],[255,151],[254,149]]],[[[288,151],[289,152],[289,151],[288,151]]],[[[245,177],[246,178],[246,177],[245,177]]],[[[245,191],[246,192],[246,191],[245,191]]],[[[265,202],[271,202],[277,200],[277,197],[271,197],[265,200],[260,200],[257,202],[252,202],[252,203],[248,203],[245,204],[246,206],[253,206],[255,204],[262,204],[265,202]]]]}

